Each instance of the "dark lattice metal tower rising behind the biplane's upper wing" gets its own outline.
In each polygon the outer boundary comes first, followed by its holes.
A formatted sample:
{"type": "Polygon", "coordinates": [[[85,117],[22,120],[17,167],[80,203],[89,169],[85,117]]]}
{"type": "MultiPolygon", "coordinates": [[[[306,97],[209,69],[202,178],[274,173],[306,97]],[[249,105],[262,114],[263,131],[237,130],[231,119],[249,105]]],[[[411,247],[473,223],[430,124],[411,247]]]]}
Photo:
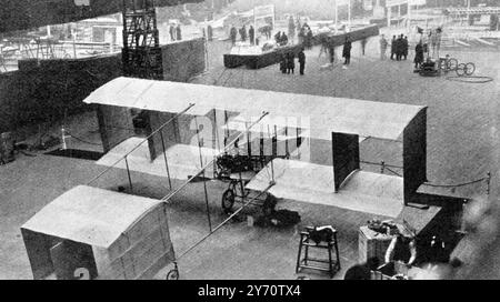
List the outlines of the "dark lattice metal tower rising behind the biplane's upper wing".
{"type": "Polygon", "coordinates": [[[123,0],[122,61],[126,77],[163,79],[154,0],[123,0]]]}

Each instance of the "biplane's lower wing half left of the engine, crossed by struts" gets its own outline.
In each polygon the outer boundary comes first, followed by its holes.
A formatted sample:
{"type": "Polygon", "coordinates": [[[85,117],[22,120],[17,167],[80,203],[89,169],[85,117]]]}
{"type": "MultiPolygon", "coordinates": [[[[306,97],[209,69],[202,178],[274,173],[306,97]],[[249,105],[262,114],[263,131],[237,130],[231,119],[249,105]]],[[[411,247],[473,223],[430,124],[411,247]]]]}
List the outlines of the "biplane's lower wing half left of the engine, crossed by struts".
{"type": "MultiPolygon", "coordinates": [[[[143,139],[130,138],[111,149],[103,155],[97,164],[111,167],[117,161],[122,159],[136,145],[139,145],[143,139]]],[[[213,160],[219,151],[210,148],[201,148],[201,157],[203,165],[213,160]]],[[[167,149],[166,157],[169,167],[169,174],[171,179],[186,180],[192,175],[200,173],[202,165],[200,163],[200,151],[198,147],[187,144],[174,144],[167,149]]],[[[142,143],[137,150],[127,157],[129,170],[144,174],[157,177],[168,177],[164,157],[159,155],[153,161],[149,153],[148,143],[142,143]]],[[[118,169],[127,169],[124,160],[119,161],[114,165],[118,169]]],[[[213,175],[213,168],[206,169],[207,177],[213,175]]]]}

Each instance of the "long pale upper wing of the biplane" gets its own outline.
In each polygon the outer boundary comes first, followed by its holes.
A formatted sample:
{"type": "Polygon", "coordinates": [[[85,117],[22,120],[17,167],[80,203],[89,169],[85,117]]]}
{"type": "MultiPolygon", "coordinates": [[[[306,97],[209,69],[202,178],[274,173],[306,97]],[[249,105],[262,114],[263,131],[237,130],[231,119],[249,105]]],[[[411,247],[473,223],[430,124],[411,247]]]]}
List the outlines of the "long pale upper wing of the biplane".
{"type": "Polygon", "coordinates": [[[236,121],[247,124],[268,112],[261,122],[264,128],[269,124],[296,128],[299,119],[301,128],[310,130],[311,138],[328,140],[331,132],[398,140],[408,123],[424,109],[400,103],[133,78],[117,78],[92,92],[84,102],[172,113],[193,103],[188,114],[206,115],[213,109],[239,112],[236,121]]]}

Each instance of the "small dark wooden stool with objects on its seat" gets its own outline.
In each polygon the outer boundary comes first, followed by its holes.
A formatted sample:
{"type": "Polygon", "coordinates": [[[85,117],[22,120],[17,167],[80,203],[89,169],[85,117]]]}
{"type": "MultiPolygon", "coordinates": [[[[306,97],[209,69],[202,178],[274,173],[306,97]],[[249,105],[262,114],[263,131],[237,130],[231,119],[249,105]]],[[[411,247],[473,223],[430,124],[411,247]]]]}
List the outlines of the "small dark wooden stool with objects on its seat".
{"type": "Polygon", "coordinates": [[[330,278],[333,278],[337,271],[340,271],[340,255],[339,255],[339,246],[337,241],[337,230],[332,228],[332,233],[328,238],[326,238],[322,242],[311,241],[311,232],[314,232],[316,228],[308,226],[306,231],[300,233],[300,244],[299,244],[299,254],[297,255],[297,266],[296,273],[300,271],[300,269],[311,269],[322,272],[330,273],[330,278]],[[328,251],[328,259],[316,259],[309,256],[309,248],[312,249],[322,249],[328,251]],[[304,250],[304,256],[302,255],[302,249],[304,250]],[[334,249],[336,261],[332,259],[332,251],[334,249]],[[327,265],[324,265],[328,264],[327,265]],[[323,265],[321,265],[323,264],[323,265]]]}

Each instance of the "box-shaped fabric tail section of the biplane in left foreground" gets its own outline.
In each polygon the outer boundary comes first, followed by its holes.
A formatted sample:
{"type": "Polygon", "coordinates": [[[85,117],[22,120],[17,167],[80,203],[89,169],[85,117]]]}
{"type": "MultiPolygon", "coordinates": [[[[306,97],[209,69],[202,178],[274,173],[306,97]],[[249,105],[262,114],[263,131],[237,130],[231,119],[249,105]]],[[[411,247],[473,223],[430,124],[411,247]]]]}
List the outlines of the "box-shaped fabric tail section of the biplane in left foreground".
{"type": "MultiPolygon", "coordinates": [[[[34,279],[64,279],[58,262],[74,261],[86,249],[96,279],[153,278],[174,258],[166,211],[159,200],[86,185],[71,189],[21,226],[34,279]],[[60,243],[78,249],[54,253],[60,243]]],[[[66,262],[71,276],[79,265],[66,262]]]]}

